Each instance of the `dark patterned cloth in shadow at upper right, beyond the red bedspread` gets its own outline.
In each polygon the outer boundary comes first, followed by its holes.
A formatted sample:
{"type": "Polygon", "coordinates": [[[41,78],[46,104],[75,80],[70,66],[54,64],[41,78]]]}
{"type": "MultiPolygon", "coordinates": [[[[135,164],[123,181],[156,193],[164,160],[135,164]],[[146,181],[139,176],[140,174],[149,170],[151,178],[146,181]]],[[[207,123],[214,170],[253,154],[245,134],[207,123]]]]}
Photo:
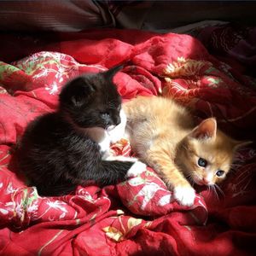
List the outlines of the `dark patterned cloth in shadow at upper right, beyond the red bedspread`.
{"type": "MultiPolygon", "coordinates": [[[[236,67],[233,70],[236,76],[239,77],[239,73],[246,73],[253,75],[255,78],[255,26],[239,26],[230,23],[201,27],[194,33],[207,46],[207,49],[218,56],[218,59],[236,67]]],[[[241,77],[241,79],[245,78],[241,77]]],[[[244,83],[247,83],[246,79],[244,83]]]]}

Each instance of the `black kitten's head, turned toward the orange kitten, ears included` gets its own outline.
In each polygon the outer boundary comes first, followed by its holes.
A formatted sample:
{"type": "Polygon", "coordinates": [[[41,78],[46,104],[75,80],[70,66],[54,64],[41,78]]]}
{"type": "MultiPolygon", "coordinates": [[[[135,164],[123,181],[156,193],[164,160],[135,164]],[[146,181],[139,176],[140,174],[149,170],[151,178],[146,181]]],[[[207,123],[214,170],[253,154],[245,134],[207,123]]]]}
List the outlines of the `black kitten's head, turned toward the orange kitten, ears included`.
{"type": "Polygon", "coordinates": [[[121,67],[107,72],[81,75],[67,83],[60,94],[60,111],[79,128],[119,125],[121,97],[113,76],[121,67]]]}

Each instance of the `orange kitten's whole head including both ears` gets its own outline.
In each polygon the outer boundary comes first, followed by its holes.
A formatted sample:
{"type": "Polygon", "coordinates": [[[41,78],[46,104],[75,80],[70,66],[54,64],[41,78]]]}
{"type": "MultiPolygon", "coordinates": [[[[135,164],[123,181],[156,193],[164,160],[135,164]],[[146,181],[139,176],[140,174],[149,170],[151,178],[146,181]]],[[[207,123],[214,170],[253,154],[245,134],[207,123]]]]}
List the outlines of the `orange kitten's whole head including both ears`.
{"type": "Polygon", "coordinates": [[[179,144],[177,164],[192,183],[214,185],[230,171],[238,142],[217,129],[216,120],[205,119],[179,144]]]}

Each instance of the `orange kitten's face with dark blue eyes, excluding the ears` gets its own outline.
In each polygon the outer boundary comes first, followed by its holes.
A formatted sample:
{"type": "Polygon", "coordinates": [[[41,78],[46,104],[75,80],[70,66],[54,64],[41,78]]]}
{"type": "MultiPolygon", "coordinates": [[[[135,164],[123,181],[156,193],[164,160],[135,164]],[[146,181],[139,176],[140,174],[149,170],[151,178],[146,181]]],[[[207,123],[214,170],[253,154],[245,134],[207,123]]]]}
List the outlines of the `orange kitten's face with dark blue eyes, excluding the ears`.
{"type": "Polygon", "coordinates": [[[224,137],[209,139],[187,138],[183,141],[180,158],[183,172],[192,183],[213,185],[219,183],[230,171],[234,150],[224,137]],[[223,142],[221,142],[223,140],[223,142]]]}

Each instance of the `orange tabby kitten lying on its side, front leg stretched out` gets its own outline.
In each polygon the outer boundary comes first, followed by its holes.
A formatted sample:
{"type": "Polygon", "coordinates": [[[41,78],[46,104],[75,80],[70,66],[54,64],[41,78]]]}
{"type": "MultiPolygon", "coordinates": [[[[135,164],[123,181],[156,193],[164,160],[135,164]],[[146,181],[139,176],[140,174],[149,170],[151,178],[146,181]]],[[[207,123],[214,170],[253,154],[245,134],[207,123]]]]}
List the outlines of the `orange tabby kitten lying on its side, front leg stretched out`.
{"type": "Polygon", "coordinates": [[[123,105],[131,148],[173,189],[183,206],[195,200],[193,184],[213,186],[230,170],[237,142],[214,118],[195,127],[189,111],[170,98],[138,96],[123,105]]]}

